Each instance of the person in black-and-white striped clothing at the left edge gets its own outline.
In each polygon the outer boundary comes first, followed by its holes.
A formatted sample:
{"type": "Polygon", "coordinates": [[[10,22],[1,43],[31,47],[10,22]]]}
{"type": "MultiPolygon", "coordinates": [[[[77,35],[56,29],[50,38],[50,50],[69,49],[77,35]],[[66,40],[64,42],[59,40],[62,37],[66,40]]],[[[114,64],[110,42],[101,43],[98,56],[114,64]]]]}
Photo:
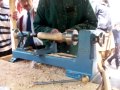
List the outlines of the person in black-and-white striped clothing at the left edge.
{"type": "Polygon", "coordinates": [[[0,0],[0,57],[12,53],[9,6],[0,0]]]}

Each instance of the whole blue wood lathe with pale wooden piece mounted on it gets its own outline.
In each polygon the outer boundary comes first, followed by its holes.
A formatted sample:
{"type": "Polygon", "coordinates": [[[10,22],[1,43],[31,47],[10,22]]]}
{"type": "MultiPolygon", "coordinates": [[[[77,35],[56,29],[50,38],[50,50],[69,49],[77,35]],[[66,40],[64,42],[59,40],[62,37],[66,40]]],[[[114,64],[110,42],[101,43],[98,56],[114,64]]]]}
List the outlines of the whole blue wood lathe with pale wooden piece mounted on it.
{"type": "Polygon", "coordinates": [[[18,31],[16,37],[19,39],[19,43],[12,53],[11,62],[15,62],[17,59],[24,59],[58,66],[66,70],[67,76],[81,80],[87,77],[88,81],[98,72],[97,62],[102,60],[100,50],[106,51],[104,46],[106,46],[108,39],[103,31],[97,30],[80,30],[79,32],[68,30],[64,33],[55,34],[43,32],[32,34],[26,31],[18,31]],[[30,51],[23,45],[24,37],[38,37],[41,40],[48,39],[52,40],[53,43],[50,48],[33,49],[30,51]],[[55,41],[62,41],[68,43],[68,45],[76,46],[77,54],[58,53],[55,41]],[[103,47],[103,49],[97,46],[103,47]]]}

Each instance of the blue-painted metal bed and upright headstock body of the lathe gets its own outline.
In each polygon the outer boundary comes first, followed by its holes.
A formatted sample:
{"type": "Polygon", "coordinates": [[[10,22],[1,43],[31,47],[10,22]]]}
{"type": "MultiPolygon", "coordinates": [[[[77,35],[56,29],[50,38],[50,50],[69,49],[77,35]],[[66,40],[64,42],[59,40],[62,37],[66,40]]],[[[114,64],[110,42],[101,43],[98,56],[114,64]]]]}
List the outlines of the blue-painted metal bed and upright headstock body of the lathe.
{"type": "MultiPolygon", "coordinates": [[[[49,64],[62,67],[66,70],[66,75],[75,79],[81,79],[83,76],[89,76],[90,79],[95,75],[97,70],[95,46],[92,43],[94,30],[83,30],[79,32],[78,52],[74,58],[64,58],[52,56],[49,54],[36,54],[35,52],[25,51],[24,48],[18,47],[13,51],[11,62],[16,59],[25,59],[36,61],[38,63],[49,64]]],[[[40,52],[40,51],[39,51],[40,52]]]]}

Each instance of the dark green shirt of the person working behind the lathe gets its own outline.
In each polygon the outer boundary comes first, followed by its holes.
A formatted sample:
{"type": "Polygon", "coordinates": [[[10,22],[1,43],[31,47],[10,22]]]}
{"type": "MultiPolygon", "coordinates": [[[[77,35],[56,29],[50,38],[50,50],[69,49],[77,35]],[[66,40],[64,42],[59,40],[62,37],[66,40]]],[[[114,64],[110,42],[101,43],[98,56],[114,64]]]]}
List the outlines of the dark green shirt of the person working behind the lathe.
{"type": "Polygon", "coordinates": [[[97,18],[89,0],[40,0],[34,20],[35,32],[95,29],[97,18]]]}

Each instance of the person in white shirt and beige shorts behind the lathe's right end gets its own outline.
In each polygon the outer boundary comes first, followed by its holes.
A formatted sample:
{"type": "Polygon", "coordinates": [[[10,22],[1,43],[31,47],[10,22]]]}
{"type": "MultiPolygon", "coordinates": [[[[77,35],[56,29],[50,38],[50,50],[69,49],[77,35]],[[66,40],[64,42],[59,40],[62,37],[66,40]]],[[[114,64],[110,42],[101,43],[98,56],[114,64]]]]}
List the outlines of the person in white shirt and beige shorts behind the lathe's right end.
{"type": "Polygon", "coordinates": [[[112,21],[109,3],[106,0],[101,0],[98,4],[96,4],[95,14],[98,18],[97,30],[100,30],[108,35],[108,37],[104,39],[104,45],[102,47],[98,46],[99,51],[101,51],[101,53],[103,51],[105,52],[105,55],[101,55],[102,58],[106,60],[106,58],[111,53],[110,50],[112,50],[115,47],[114,37],[112,34],[112,21]]]}

